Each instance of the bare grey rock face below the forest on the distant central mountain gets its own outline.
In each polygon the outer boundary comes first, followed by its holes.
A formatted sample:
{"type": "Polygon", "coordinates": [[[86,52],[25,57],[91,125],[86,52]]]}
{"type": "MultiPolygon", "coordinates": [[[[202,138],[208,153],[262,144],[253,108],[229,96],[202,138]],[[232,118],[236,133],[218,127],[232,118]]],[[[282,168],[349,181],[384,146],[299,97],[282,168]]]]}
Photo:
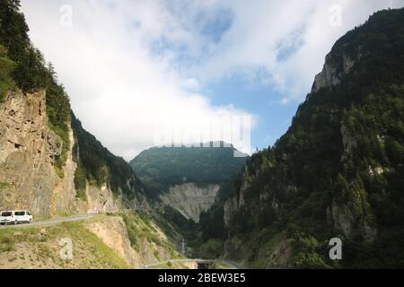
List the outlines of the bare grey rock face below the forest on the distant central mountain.
{"type": "Polygon", "coordinates": [[[220,186],[193,182],[170,187],[160,198],[165,204],[177,209],[188,219],[199,221],[199,214],[215,203],[220,186]]]}

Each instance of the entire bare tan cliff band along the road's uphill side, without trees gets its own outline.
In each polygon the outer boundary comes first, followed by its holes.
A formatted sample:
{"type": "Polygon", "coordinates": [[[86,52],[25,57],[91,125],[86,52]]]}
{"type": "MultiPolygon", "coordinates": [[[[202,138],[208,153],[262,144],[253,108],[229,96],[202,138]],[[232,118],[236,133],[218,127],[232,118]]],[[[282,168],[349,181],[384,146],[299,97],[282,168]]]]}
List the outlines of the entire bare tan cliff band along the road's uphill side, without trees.
{"type": "MultiPolygon", "coordinates": [[[[0,103],[0,209],[28,209],[36,217],[46,218],[72,213],[117,212],[123,208],[147,208],[143,196],[124,195],[85,184],[85,196],[75,188],[77,163],[73,147],[77,141],[68,125],[69,145],[61,172],[55,159],[63,144],[51,128],[46,112],[46,91],[8,92],[0,103]]],[[[137,190],[140,192],[140,190],[137,190]]]]}

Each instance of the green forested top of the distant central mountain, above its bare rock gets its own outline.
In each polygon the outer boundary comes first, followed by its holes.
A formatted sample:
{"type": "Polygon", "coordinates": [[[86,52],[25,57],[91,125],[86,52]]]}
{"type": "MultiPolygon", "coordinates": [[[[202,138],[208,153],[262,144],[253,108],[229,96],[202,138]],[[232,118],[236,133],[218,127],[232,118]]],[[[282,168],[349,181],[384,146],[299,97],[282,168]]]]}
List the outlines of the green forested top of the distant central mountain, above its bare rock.
{"type": "MultiPolygon", "coordinates": [[[[154,147],[129,162],[155,195],[183,182],[223,183],[242,169],[246,158],[233,147],[154,147]]],[[[212,143],[211,143],[212,145],[212,143]]]]}

